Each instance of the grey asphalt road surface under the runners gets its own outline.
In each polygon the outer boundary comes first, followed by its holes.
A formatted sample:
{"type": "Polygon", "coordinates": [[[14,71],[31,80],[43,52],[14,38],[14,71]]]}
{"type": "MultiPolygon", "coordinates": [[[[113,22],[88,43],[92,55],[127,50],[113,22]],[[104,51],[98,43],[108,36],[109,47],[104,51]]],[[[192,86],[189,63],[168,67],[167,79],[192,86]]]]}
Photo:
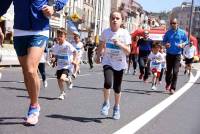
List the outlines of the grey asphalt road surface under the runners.
{"type": "MultiPolygon", "coordinates": [[[[199,65],[195,65],[199,68],[199,65]]],[[[112,134],[126,126],[149,109],[171,97],[164,90],[164,79],[157,91],[150,90],[151,83],[144,83],[137,75],[124,75],[121,100],[121,119],[113,120],[112,108],[108,117],[100,115],[103,94],[103,73],[101,66],[89,70],[81,66],[81,74],[74,81],[74,87],[67,91],[65,100],[59,95],[55,69],[47,68],[48,87],[41,88],[41,114],[34,127],[23,125],[29,99],[23,83],[20,67],[0,69],[0,134],[112,134]]],[[[193,71],[196,76],[197,71],[193,71]]],[[[149,79],[150,80],[150,79],[149,79]]],[[[189,80],[181,68],[177,89],[189,80]]],[[[183,95],[171,105],[145,123],[137,134],[199,134],[200,80],[193,83],[183,95]]],[[[111,92],[111,106],[113,106],[111,92]]],[[[126,133],[123,133],[126,134],[126,133]]]]}

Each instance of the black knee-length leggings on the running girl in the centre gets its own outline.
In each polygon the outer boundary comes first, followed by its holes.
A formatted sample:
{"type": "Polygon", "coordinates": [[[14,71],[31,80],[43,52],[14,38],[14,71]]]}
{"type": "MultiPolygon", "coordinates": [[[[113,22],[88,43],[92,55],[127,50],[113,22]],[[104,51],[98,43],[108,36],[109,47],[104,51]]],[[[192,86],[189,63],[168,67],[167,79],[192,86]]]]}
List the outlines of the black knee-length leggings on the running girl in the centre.
{"type": "Polygon", "coordinates": [[[120,71],[116,71],[111,66],[104,65],[103,71],[104,71],[104,88],[110,89],[113,82],[113,90],[115,93],[119,94],[121,92],[123,69],[120,71]]]}

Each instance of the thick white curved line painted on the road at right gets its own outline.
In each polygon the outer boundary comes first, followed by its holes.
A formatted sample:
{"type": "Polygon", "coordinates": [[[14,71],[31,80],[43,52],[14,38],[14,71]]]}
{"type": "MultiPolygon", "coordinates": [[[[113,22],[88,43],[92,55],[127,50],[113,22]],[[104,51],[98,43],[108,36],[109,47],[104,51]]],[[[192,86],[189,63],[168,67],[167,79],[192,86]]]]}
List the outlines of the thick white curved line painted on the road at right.
{"type": "Polygon", "coordinates": [[[149,121],[151,121],[154,117],[160,114],[163,110],[165,110],[169,105],[175,102],[181,95],[183,95],[186,91],[188,91],[192,85],[198,80],[200,77],[200,70],[197,71],[196,76],[190,75],[189,81],[177,92],[173,95],[169,96],[150,110],[146,111],[144,114],[140,115],[126,126],[122,127],[114,134],[134,134],[139,129],[141,129],[144,125],[146,125],[149,121]]]}

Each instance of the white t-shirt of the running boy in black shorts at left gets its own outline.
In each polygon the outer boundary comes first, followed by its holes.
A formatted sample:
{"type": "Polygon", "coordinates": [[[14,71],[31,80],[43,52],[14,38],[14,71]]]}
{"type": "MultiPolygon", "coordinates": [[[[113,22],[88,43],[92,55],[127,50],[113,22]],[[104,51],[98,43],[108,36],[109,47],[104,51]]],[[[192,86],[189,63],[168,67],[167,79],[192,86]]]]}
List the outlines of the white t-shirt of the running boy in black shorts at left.
{"type": "Polygon", "coordinates": [[[56,44],[52,47],[52,52],[57,58],[57,70],[69,69],[71,71],[73,69],[72,61],[74,51],[76,49],[67,41],[62,45],[56,44]]]}

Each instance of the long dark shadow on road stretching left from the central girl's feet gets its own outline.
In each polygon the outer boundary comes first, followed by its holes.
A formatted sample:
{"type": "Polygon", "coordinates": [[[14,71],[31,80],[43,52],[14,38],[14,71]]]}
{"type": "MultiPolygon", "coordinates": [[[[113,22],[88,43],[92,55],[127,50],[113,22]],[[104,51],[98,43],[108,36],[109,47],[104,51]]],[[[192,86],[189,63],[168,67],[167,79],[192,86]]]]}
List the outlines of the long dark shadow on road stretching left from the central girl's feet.
{"type": "Polygon", "coordinates": [[[57,118],[57,119],[62,119],[62,120],[66,120],[66,121],[73,120],[73,121],[78,121],[78,122],[83,122],[83,123],[87,123],[87,122],[102,123],[102,120],[111,119],[110,117],[87,118],[87,117],[72,117],[72,116],[65,116],[65,115],[58,115],[58,114],[47,115],[46,117],[57,118]]]}

